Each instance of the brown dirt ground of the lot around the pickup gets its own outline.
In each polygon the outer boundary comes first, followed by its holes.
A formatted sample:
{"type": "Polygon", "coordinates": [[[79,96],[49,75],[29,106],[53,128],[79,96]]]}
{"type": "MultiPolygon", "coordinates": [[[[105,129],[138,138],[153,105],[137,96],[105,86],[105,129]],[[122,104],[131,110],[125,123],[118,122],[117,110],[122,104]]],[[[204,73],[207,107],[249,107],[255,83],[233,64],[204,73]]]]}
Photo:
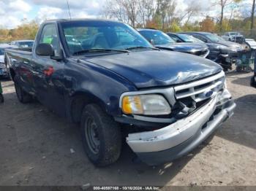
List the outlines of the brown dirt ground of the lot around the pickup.
{"type": "Polygon", "coordinates": [[[256,89],[249,87],[251,76],[227,75],[238,106],[213,139],[158,167],[135,162],[124,145],[116,164],[95,168],[83,152],[77,125],[37,102],[20,104],[12,82],[3,81],[0,185],[256,185],[256,89]]]}

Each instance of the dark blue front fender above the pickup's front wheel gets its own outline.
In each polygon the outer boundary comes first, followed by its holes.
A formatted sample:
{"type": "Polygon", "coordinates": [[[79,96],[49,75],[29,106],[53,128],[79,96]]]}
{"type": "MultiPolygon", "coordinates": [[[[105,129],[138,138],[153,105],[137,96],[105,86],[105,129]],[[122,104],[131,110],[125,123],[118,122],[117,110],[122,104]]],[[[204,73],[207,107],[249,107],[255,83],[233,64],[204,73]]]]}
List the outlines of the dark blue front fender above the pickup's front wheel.
{"type": "Polygon", "coordinates": [[[121,114],[119,109],[121,94],[137,90],[135,85],[127,79],[102,66],[80,61],[80,63],[68,62],[65,68],[64,78],[69,79],[69,82],[65,82],[68,99],[72,100],[77,93],[84,93],[97,100],[100,106],[112,116],[121,114]]]}

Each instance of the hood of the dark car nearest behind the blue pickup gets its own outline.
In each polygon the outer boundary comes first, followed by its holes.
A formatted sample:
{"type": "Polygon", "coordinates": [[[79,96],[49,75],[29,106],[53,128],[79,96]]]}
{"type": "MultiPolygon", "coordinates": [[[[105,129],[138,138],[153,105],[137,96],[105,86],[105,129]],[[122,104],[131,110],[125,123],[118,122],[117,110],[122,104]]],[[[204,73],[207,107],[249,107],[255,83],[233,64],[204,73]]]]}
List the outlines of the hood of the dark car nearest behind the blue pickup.
{"type": "Polygon", "coordinates": [[[162,45],[155,45],[155,47],[167,49],[167,50],[173,50],[177,52],[189,52],[189,53],[206,51],[208,49],[208,47],[205,44],[192,43],[192,42],[162,44],[162,45]]]}

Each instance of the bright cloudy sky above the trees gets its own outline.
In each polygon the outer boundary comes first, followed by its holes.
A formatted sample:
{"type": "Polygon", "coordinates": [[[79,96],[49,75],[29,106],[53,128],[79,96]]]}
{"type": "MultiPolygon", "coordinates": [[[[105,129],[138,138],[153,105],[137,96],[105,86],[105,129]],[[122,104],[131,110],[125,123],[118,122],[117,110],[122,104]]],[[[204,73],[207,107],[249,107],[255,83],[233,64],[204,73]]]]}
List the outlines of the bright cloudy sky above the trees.
{"type": "MultiPolygon", "coordinates": [[[[69,0],[72,17],[100,17],[105,0],[69,0]]],[[[186,9],[195,0],[177,0],[178,9],[186,9]]],[[[207,7],[211,0],[198,0],[207,7]]],[[[249,0],[248,0],[249,1],[249,0]]],[[[0,0],[0,26],[15,28],[21,20],[45,20],[69,17],[67,0],[0,0]]]]}

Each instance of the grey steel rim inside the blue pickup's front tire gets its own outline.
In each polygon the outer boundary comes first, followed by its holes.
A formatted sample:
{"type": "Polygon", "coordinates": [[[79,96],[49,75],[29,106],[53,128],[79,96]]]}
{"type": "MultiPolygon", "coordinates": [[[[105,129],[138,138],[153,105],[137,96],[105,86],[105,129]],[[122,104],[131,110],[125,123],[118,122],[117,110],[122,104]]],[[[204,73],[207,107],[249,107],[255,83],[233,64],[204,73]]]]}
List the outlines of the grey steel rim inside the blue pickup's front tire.
{"type": "Polygon", "coordinates": [[[99,153],[99,128],[92,117],[88,117],[85,123],[86,142],[94,154],[99,153]]]}

